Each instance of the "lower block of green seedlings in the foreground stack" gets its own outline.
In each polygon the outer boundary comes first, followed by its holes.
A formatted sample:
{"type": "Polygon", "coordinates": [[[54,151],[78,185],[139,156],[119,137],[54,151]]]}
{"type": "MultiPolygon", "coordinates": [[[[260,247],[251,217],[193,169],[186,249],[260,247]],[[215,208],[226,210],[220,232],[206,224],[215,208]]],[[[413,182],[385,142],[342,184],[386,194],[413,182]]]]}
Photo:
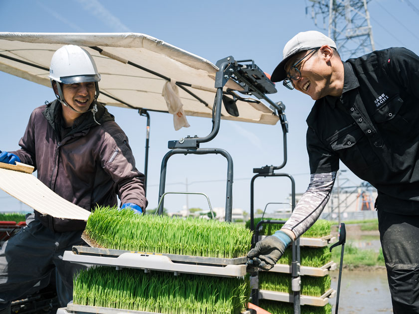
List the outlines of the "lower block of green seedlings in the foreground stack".
{"type": "Polygon", "coordinates": [[[248,279],[92,267],[74,278],[73,303],[165,314],[239,314],[248,279]]]}

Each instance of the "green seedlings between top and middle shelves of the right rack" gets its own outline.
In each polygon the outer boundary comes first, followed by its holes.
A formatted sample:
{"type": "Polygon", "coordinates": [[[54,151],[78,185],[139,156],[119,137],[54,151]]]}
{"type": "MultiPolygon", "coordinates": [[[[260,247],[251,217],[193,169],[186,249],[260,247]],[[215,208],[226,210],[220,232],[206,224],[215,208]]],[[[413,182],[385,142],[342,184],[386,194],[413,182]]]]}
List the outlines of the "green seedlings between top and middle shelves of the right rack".
{"type": "MultiPolygon", "coordinates": [[[[322,267],[332,260],[332,253],[327,246],[312,248],[307,246],[300,247],[301,266],[322,267]]],[[[284,255],[278,260],[278,264],[291,265],[292,250],[285,250],[284,255]]]]}

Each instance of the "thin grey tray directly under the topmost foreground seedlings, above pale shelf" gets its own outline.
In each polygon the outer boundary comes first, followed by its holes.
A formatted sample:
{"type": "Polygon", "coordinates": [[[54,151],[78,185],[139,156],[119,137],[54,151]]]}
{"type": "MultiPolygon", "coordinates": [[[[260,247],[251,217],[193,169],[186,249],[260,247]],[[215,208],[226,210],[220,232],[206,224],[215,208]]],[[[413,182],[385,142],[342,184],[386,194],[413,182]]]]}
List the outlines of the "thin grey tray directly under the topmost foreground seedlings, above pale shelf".
{"type": "Polygon", "coordinates": [[[124,253],[137,253],[147,255],[163,255],[170,258],[175,263],[194,263],[198,265],[240,265],[245,264],[247,257],[236,257],[236,258],[216,258],[216,257],[205,257],[205,256],[191,256],[191,255],[178,255],[178,254],[166,254],[166,253],[150,253],[140,251],[126,251],[116,249],[105,249],[95,248],[89,246],[73,246],[72,251],[79,255],[92,255],[92,256],[107,256],[107,257],[118,257],[124,253]]]}

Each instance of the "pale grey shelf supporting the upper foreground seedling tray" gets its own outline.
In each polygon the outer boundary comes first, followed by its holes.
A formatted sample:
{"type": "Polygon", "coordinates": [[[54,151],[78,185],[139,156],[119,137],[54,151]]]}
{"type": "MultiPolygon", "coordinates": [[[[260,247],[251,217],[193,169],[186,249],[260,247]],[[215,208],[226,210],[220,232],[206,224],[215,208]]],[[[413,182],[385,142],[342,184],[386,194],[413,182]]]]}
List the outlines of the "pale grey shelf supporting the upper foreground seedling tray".
{"type": "Polygon", "coordinates": [[[117,269],[137,268],[144,269],[146,272],[150,270],[173,272],[175,275],[185,273],[221,277],[241,277],[246,274],[245,264],[197,265],[197,263],[194,262],[173,262],[171,258],[166,255],[142,252],[125,252],[117,256],[100,256],[97,254],[78,254],[74,251],[65,251],[63,260],[78,264],[113,266],[117,269]]]}

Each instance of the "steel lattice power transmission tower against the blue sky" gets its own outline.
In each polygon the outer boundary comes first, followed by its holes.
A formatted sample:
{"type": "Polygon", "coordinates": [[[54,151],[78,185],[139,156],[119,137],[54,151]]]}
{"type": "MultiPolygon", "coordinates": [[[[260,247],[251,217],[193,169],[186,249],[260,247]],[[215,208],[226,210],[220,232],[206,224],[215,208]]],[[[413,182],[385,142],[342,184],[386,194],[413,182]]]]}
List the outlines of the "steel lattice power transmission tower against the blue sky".
{"type": "MultiPolygon", "coordinates": [[[[328,29],[342,59],[375,50],[368,0],[309,0],[314,23],[328,29]],[[319,25],[319,17],[323,25],[319,25]]],[[[310,7],[306,8],[306,13],[310,7]]]]}

